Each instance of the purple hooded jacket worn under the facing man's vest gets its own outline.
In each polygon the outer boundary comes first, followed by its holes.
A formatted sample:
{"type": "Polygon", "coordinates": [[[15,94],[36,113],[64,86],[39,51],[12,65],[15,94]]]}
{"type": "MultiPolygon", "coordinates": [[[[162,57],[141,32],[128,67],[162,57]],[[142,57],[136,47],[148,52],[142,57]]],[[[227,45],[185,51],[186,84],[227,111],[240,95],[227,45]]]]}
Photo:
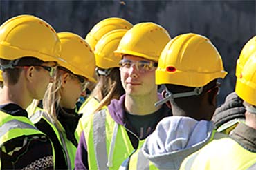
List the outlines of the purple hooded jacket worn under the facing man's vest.
{"type": "MultiPolygon", "coordinates": [[[[161,94],[158,94],[158,98],[161,98],[161,94]]],[[[125,95],[121,96],[119,100],[113,99],[111,103],[108,105],[109,114],[113,118],[113,120],[124,126],[126,129],[133,131],[129,122],[126,121],[125,118],[125,95]]],[[[163,105],[163,112],[161,112],[161,118],[165,118],[167,116],[172,116],[172,111],[166,106],[163,105]]],[[[155,128],[154,128],[155,129],[155,128]]],[[[154,131],[150,131],[150,134],[154,131]]],[[[138,139],[129,131],[127,131],[128,136],[133,145],[138,145],[138,139]]],[[[88,160],[87,160],[87,145],[84,137],[84,133],[80,136],[80,142],[77,147],[77,153],[75,156],[75,169],[89,169],[88,160]]]]}

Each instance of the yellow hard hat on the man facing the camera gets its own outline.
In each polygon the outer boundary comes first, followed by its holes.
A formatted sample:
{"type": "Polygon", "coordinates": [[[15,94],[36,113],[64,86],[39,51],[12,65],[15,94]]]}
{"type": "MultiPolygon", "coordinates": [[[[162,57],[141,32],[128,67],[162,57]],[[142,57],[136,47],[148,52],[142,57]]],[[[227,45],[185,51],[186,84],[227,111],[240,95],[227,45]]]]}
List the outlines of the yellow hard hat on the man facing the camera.
{"type": "Polygon", "coordinates": [[[138,23],[122,37],[116,56],[129,54],[158,62],[161,51],[170,41],[165,28],[156,23],[138,23]]]}

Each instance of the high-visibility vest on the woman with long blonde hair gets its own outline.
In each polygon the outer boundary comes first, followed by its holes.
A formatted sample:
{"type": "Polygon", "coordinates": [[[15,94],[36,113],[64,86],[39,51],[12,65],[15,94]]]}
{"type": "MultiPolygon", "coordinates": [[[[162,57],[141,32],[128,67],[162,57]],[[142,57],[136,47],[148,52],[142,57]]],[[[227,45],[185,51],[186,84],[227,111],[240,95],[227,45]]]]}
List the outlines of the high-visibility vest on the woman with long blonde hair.
{"type": "MultiPolygon", "coordinates": [[[[64,132],[64,127],[59,123],[60,129],[57,128],[57,125],[53,123],[53,120],[46,114],[45,111],[39,110],[33,114],[33,116],[30,117],[30,120],[33,123],[37,123],[41,118],[43,118],[48,125],[51,126],[53,131],[55,132],[57,139],[60,142],[60,145],[62,145],[62,148],[64,149],[64,157],[66,158],[66,164],[68,166],[68,169],[74,169],[75,168],[75,153],[77,150],[77,147],[73,145],[73,143],[67,139],[66,133],[64,132]]],[[[79,136],[75,132],[75,139],[79,141],[79,136]]]]}

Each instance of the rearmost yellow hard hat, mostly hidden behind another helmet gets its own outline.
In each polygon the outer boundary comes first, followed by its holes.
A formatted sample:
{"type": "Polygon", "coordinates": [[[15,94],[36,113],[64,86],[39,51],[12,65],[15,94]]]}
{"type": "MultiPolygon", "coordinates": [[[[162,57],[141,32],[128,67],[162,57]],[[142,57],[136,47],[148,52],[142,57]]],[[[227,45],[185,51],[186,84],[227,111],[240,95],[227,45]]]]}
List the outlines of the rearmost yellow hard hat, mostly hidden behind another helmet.
{"type": "Polygon", "coordinates": [[[107,18],[93,26],[91,31],[86,35],[85,41],[89,43],[91,48],[94,50],[95,45],[98,43],[100,38],[107,32],[117,29],[129,30],[132,26],[133,25],[125,19],[117,17],[107,18]]]}

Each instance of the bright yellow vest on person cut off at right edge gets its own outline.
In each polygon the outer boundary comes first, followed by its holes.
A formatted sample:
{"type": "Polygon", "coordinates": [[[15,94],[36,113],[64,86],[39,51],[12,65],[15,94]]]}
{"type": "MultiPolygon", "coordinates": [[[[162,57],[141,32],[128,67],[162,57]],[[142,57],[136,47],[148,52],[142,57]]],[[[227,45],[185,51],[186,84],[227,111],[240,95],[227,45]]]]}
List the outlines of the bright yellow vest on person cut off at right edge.
{"type": "Polygon", "coordinates": [[[256,169],[256,153],[244,149],[232,138],[213,140],[185,158],[181,169],[256,169]]]}

